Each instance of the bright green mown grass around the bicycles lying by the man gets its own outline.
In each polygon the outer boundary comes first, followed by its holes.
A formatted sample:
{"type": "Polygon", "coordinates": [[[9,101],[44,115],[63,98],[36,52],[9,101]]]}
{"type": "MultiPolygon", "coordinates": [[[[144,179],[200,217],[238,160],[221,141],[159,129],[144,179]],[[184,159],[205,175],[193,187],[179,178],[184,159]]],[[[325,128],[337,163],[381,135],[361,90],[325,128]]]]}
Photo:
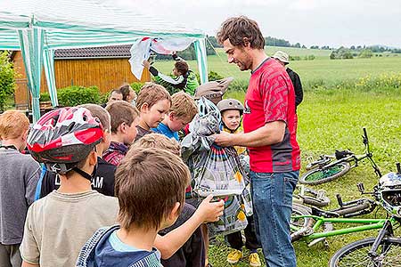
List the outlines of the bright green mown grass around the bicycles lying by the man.
{"type": "MultiPolygon", "coordinates": [[[[243,99],[243,93],[230,92],[228,97],[243,99]]],[[[373,158],[382,173],[395,171],[395,163],[401,161],[401,96],[400,93],[360,93],[347,90],[327,92],[307,92],[298,109],[298,142],[302,150],[304,165],[308,156],[333,153],[336,149],[349,149],[356,153],[364,152],[362,127],[366,127],[373,151],[373,158]]],[[[302,170],[303,172],[304,170],[302,170]]],[[[301,173],[302,173],[301,172],[301,173]]],[[[324,189],[331,198],[331,208],[337,206],[335,194],[340,193],[344,201],[359,198],[356,183],[364,182],[366,190],[371,190],[378,182],[372,167],[363,162],[338,180],[328,182],[315,189],[324,189]]],[[[384,212],[378,215],[383,216],[384,212]]],[[[364,215],[366,218],[375,214],[364,215]]],[[[346,225],[336,225],[339,229],[346,225]]],[[[321,244],[307,247],[303,242],[294,243],[299,267],[327,266],[331,255],[340,247],[357,239],[375,236],[377,231],[360,232],[327,239],[329,248],[321,244]]],[[[400,235],[400,231],[397,231],[400,235]]],[[[225,245],[211,246],[210,262],[213,266],[229,266],[225,257],[229,248],[225,245]]],[[[260,255],[262,255],[260,253],[260,255]]],[[[235,266],[248,266],[244,258],[235,266]]]]}

